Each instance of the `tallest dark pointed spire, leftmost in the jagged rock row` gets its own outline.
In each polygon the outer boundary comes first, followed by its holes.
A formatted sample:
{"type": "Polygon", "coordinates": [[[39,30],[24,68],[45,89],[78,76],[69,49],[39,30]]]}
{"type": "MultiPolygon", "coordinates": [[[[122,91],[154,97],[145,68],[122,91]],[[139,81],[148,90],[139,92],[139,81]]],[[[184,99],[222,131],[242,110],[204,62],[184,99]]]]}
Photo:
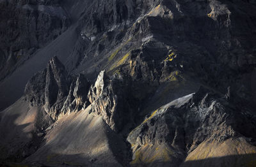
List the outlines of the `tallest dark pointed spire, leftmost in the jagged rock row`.
{"type": "Polygon", "coordinates": [[[43,106],[52,119],[60,115],[67,98],[69,81],[65,67],[57,57],[47,64],[44,71],[37,73],[26,85],[26,99],[32,106],[43,106]]]}

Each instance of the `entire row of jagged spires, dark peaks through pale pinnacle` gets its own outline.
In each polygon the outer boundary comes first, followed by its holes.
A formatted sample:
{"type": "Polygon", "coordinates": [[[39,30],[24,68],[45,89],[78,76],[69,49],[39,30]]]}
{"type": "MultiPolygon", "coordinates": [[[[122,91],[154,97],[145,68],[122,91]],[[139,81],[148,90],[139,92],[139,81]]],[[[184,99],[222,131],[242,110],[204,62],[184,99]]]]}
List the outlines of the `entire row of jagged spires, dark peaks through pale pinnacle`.
{"type": "Polygon", "coordinates": [[[65,113],[78,112],[91,104],[90,112],[102,115],[111,129],[122,129],[131,114],[129,103],[123,97],[126,88],[120,78],[109,79],[101,71],[91,86],[82,74],[74,78],[72,83],[68,78],[72,77],[67,75],[63,64],[57,57],[52,57],[47,68],[33,76],[26,85],[26,100],[31,106],[44,106],[45,112],[53,120],[65,113]]]}

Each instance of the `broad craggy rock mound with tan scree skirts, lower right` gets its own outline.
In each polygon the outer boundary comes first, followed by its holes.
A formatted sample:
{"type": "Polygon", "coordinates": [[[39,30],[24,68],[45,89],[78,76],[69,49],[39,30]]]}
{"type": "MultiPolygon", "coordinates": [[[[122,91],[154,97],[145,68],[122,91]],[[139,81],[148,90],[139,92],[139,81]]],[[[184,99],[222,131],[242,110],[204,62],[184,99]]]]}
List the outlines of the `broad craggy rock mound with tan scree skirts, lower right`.
{"type": "MultiPolygon", "coordinates": [[[[131,143],[134,152],[132,164],[134,166],[143,164],[179,166],[186,156],[186,161],[205,158],[202,157],[204,153],[200,156],[194,155],[200,154],[199,152],[195,153],[195,149],[199,145],[224,143],[230,138],[241,140],[238,142],[241,147],[237,147],[241,152],[250,143],[252,149],[249,149],[250,153],[248,152],[248,154],[254,154],[254,143],[248,141],[250,138],[255,138],[255,124],[253,123],[255,119],[256,117],[252,113],[235,108],[225,101],[224,97],[201,87],[195,94],[176,99],[158,108],[129,134],[127,140],[131,143]],[[243,127],[237,126],[241,120],[247,122],[243,127]],[[159,148],[157,149],[157,147],[159,148]],[[170,163],[164,163],[164,161],[170,161],[170,163]]],[[[226,145],[222,149],[228,150],[226,147],[231,146],[226,145]]],[[[212,149],[211,152],[214,152],[214,149],[217,148],[209,146],[205,149],[212,149]]],[[[218,151],[215,151],[215,156],[220,154],[218,151]]],[[[204,150],[204,152],[206,153],[208,150],[204,150]]],[[[236,154],[236,151],[230,150],[228,154],[236,154]]],[[[234,158],[223,159],[218,164],[234,158]]],[[[255,156],[244,159],[239,157],[238,159],[239,163],[232,163],[232,166],[246,164],[249,160],[253,161],[255,156]]],[[[187,166],[186,161],[181,166],[187,166]]],[[[204,165],[215,166],[209,162],[204,165]]]]}

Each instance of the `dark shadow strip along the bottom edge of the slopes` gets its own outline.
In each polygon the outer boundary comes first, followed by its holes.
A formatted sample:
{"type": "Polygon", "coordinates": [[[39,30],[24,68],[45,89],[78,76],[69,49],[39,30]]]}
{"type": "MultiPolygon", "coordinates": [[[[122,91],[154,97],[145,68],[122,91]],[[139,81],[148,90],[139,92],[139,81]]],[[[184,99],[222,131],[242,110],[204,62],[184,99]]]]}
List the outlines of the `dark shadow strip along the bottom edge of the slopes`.
{"type": "MultiPolygon", "coordinates": [[[[118,166],[116,163],[106,162],[106,163],[97,163],[98,159],[86,159],[85,157],[74,154],[74,155],[58,155],[58,154],[52,154],[55,156],[55,158],[60,157],[60,161],[55,162],[35,162],[33,164],[18,164],[18,163],[0,163],[0,166],[3,167],[9,167],[9,166],[118,166]],[[63,157],[65,159],[67,158],[67,161],[63,160],[63,157]],[[76,163],[75,159],[79,158],[85,158],[88,163],[76,163]],[[73,161],[70,161],[68,159],[73,159],[73,161]]],[[[170,166],[170,162],[164,162],[164,163],[154,163],[154,164],[133,164],[132,166],[138,166],[138,167],[146,167],[146,166],[170,166]]],[[[195,161],[187,161],[180,164],[177,164],[177,166],[174,167],[200,167],[200,166],[207,166],[207,167],[255,167],[256,166],[256,154],[243,154],[243,155],[236,155],[236,156],[224,156],[224,157],[213,157],[213,158],[207,158],[202,160],[195,160],[195,161]]]]}

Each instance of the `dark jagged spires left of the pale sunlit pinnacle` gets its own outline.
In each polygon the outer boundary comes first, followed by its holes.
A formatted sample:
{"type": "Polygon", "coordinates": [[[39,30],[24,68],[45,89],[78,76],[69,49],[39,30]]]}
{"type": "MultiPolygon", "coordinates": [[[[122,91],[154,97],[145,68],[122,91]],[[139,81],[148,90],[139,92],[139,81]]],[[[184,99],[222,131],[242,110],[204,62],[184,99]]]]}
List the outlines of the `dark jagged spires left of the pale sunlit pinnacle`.
{"type": "Polygon", "coordinates": [[[57,120],[90,105],[89,88],[90,82],[83,74],[69,76],[58,58],[52,57],[47,68],[29,80],[24,93],[32,106],[44,106],[45,112],[57,120]]]}

